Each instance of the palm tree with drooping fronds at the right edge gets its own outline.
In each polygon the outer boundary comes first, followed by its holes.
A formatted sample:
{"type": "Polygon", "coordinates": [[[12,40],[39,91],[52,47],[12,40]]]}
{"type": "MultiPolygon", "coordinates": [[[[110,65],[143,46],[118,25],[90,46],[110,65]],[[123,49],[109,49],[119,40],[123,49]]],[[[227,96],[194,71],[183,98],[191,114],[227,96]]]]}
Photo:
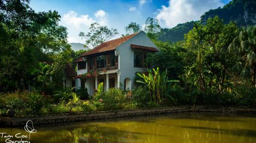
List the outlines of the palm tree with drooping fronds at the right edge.
{"type": "Polygon", "coordinates": [[[237,49],[237,52],[242,55],[245,66],[241,75],[244,76],[248,68],[252,76],[252,86],[256,88],[256,26],[243,28],[229,45],[229,48],[237,49]]]}

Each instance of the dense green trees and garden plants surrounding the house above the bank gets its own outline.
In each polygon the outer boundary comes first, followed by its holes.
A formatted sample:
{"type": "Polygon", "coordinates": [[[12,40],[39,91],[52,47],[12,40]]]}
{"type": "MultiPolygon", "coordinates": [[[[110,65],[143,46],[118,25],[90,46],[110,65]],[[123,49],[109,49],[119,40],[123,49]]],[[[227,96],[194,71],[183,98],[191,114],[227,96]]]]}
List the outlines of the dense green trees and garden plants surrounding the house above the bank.
{"type": "MultiPolygon", "coordinates": [[[[137,73],[131,91],[104,92],[99,84],[88,97],[86,89],[63,87],[65,65],[75,68],[73,61],[86,50],[71,49],[67,28],[59,22],[57,11],[35,12],[28,0],[0,1],[0,116],[9,116],[11,110],[20,116],[187,104],[256,105],[256,26],[251,23],[241,26],[221,16],[209,17],[190,23],[193,28],[184,40],[172,42],[159,40],[163,28],[157,19],[148,17],[144,29],[132,21],[123,36],[144,31],[160,49],[146,59],[152,69],[148,75],[137,73]]],[[[89,30],[79,34],[86,46],[118,34],[98,23],[89,30]]]]}

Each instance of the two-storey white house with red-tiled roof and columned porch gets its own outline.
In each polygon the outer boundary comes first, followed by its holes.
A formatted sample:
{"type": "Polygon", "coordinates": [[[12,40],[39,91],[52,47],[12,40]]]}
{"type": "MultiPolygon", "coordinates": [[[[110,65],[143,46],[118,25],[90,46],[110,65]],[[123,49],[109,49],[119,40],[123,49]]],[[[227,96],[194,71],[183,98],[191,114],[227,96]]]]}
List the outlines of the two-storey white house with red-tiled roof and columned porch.
{"type": "Polygon", "coordinates": [[[81,86],[93,95],[98,84],[104,90],[118,88],[131,90],[136,72],[146,71],[147,53],[157,52],[156,45],[142,31],[129,36],[104,42],[82,53],[77,63],[76,89],[81,86]]]}

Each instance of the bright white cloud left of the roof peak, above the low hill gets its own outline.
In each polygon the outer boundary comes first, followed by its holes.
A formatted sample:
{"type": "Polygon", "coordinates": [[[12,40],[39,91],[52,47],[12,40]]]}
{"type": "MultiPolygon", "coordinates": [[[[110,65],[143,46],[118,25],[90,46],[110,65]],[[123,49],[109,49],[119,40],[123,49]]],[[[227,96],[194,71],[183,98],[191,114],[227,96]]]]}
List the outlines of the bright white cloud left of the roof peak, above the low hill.
{"type": "Polygon", "coordinates": [[[108,25],[108,17],[108,13],[103,10],[96,11],[94,16],[78,15],[74,11],[69,11],[62,16],[60,24],[68,28],[68,41],[70,43],[84,43],[84,39],[81,39],[78,34],[80,32],[87,33],[93,22],[108,25]]]}

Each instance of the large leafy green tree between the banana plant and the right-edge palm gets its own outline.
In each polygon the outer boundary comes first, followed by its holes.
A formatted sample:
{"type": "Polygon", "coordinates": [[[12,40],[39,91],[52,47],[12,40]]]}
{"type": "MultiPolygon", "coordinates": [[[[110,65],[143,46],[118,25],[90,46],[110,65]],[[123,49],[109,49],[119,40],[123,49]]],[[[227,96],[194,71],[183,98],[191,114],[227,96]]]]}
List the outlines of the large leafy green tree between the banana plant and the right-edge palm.
{"type": "Polygon", "coordinates": [[[233,22],[224,24],[218,17],[209,18],[206,25],[195,25],[185,36],[186,78],[190,86],[213,88],[219,93],[227,90],[231,68],[237,61],[228,46],[237,35],[238,27],[233,22]]]}

